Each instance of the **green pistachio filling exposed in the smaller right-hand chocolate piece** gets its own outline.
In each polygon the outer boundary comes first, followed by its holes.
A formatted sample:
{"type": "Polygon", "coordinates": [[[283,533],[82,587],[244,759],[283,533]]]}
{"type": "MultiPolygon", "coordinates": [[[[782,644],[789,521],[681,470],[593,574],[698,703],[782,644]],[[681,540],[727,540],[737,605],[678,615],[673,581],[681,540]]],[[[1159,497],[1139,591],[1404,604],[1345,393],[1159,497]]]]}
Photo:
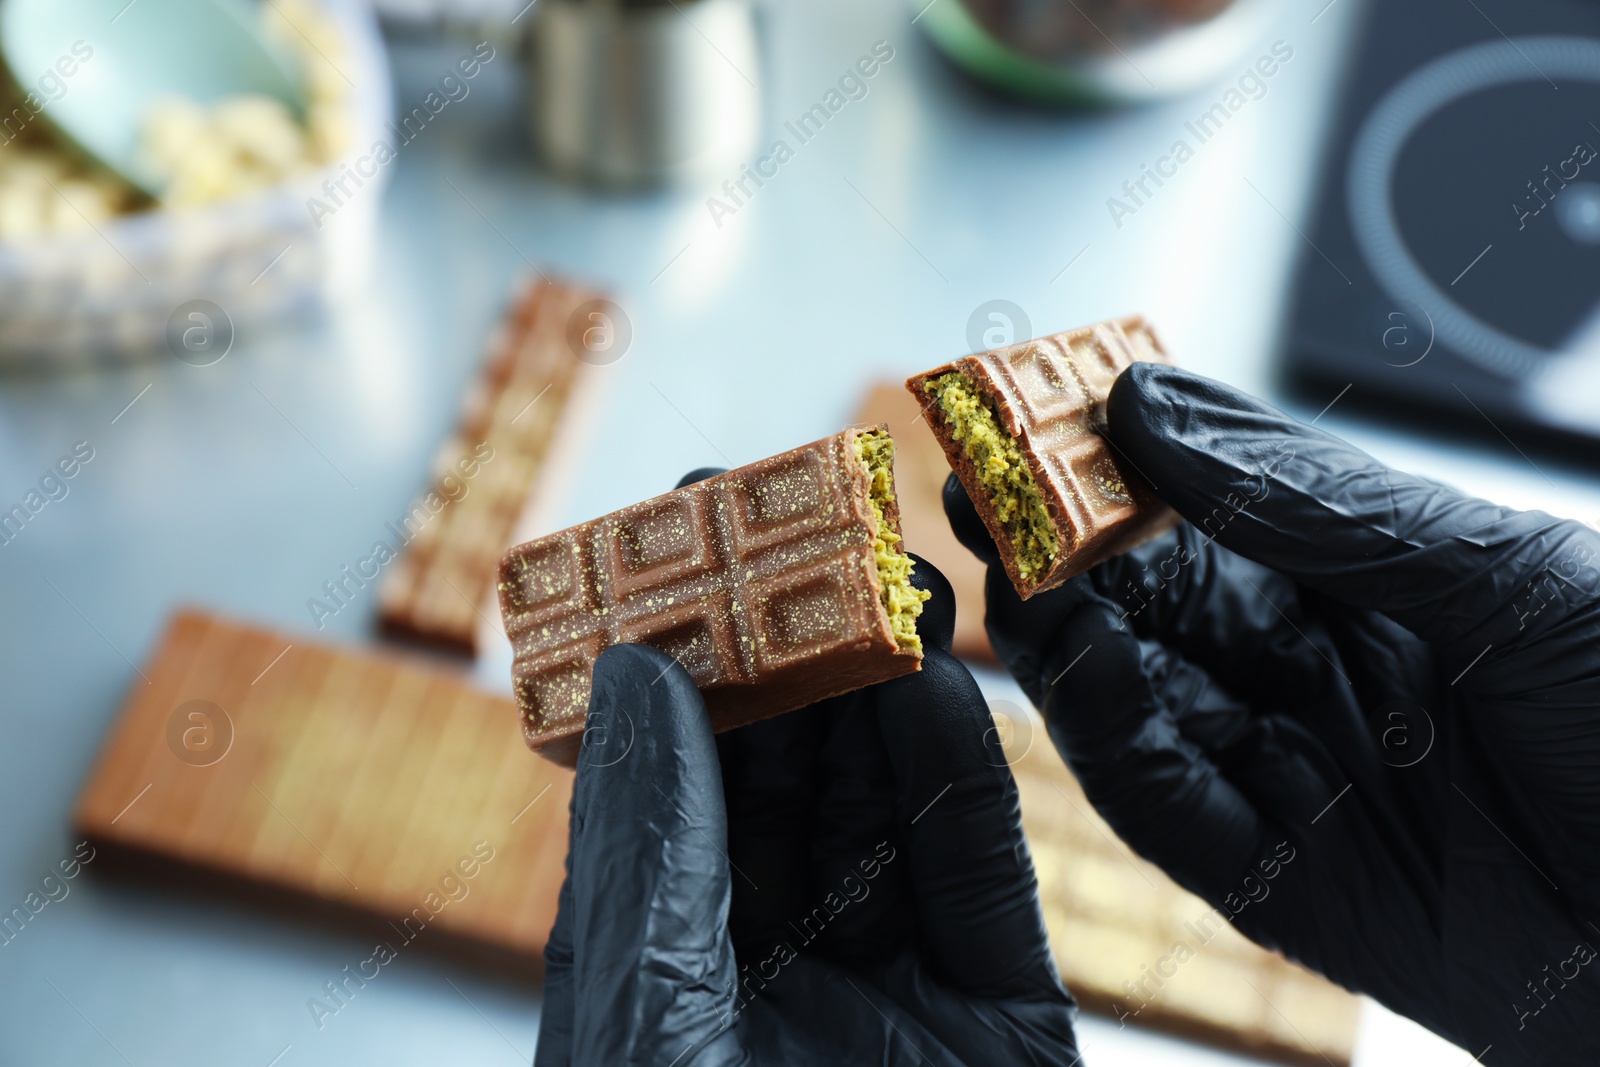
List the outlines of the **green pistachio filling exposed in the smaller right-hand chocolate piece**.
{"type": "Polygon", "coordinates": [[[1022,450],[966,374],[939,374],[923,389],[938,400],[950,437],[966,451],[978,482],[989,491],[995,517],[1016,550],[1018,577],[1042,577],[1061,552],[1061,539],[1022,450]]]}

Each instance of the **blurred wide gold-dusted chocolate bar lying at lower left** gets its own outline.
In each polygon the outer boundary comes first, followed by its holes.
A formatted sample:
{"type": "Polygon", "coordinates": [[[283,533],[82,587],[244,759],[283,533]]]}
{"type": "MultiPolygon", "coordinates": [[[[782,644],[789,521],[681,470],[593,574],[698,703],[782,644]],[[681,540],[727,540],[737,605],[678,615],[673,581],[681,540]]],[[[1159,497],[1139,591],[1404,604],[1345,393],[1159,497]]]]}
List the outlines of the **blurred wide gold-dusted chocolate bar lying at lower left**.
{"type": "Polygon", "coordinates": [[[528,760],[509,699],[198,611],[144,675],[78,795],[91,843],[378,915],[398,952],[544,950],[571,774],[528,760]]]}

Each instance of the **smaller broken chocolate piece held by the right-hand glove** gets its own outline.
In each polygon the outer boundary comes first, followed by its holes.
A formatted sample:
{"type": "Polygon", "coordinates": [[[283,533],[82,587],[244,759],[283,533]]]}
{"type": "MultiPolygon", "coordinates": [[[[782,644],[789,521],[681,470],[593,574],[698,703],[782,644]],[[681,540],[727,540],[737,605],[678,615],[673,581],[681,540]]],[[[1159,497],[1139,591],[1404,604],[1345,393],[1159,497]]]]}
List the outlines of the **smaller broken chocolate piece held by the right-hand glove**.
{"type": "Polygon", "coordinates": [[[966,355],[906,381],[1027,600],[1176,522],[1099,430],[1134,360],[1168,363],[1139,317],[966,355]]]}

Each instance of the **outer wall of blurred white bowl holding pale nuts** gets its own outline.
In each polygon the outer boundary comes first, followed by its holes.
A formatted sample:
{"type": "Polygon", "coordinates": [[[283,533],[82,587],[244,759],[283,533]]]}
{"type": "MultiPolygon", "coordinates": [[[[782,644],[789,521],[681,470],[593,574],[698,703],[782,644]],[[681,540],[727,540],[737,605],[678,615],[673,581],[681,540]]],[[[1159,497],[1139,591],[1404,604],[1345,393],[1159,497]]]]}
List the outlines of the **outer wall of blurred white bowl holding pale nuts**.
{"type": "MultiPolygon", "coordinates": [[[[339,163],[270,192],[202,208],[154,210],[98,230],[0,242],[0,368],[56,370],[166,349],[166,320],[206,299],[242,323],[315,314],[368,275],[389,168],[320,226],[309,197],[374,141],[394,141],[382,35],[363,0],[320,0],[346,42],[350,142],[339,163]]],[[[392,166],[392,165],[390,165],[392,166]]]]}

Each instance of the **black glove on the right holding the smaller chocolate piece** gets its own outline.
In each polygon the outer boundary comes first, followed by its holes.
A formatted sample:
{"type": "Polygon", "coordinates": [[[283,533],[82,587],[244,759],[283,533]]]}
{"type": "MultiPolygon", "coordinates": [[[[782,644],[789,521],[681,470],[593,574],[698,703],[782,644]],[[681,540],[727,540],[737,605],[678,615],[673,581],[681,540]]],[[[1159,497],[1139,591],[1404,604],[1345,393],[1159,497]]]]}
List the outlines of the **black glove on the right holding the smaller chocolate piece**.
{"type": "Polygon", "coordinates": [[[1058,590],[1019,600],[946,486],[995,651],[1094,806],[1254,941],[1485,1064],[1594,1062],[1600,536],[1170,366],[1125,371],[1107,418],[1187,523],[1058,590]]]}

